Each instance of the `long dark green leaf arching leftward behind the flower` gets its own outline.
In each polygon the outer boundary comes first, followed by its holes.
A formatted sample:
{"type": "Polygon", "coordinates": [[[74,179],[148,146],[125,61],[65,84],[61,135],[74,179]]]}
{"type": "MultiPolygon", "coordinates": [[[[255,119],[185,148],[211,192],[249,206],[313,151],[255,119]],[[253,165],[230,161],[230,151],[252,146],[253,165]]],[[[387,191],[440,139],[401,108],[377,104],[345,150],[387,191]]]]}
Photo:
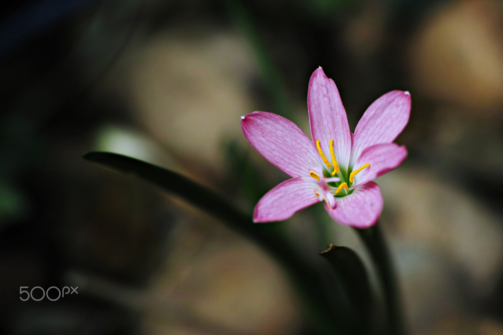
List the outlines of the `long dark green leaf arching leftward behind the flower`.
{"type": "MultiPolygon", "coordinates": [[[[91,160],[124,173],[134,174],[220,218],[227,226],[261,245],[287,271],[306,311],[324,334],[356,334],[355,317],[336,277],[321,264],[306,260],[282,234],[281,223],[254,224],[223,197],[175,172],[110,152],[88,152],[91,160]]],[[[260,271],[260,269],[258,270],[260,271]]]]}

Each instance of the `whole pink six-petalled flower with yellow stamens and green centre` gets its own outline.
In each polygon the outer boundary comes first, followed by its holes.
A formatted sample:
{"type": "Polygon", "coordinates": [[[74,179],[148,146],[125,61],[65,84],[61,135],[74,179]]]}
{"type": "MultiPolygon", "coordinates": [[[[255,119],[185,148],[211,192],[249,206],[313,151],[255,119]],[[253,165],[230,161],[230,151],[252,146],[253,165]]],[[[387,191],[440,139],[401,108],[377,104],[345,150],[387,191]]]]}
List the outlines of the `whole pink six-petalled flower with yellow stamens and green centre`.
{"type": "Polygon", "coordinates": [[[325,201],[336,221],[372,226],[382,211],[379,186],[371,180],[405,159],[405,146],[393,140],[410,115],[410,94],[386,93],[367,108],[351,133],[339,91],[321,67],[309,80],[307,107],[311,141],[292,121],[267,112],[241,117],[244,136],[267,160],[292,177],[264,195],[255,206],[255,222],[286,220],[325,201]]]}

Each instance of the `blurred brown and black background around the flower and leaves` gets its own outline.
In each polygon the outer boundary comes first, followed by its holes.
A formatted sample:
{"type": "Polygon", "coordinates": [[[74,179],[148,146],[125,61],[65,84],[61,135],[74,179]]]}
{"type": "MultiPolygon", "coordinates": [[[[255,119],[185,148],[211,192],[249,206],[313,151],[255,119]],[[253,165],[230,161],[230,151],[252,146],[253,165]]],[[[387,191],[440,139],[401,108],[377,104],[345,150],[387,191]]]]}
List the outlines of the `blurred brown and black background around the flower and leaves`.
{"type": "MultiPolygon", "coordinates": [[[[408,158],[377,180],[410,334],[503,334],[502,2],[23,0],[0,11],[1,333],[314,334],[262,249],[81,155],[152,162],[250,212],[287,176],[251,149],[239,116],[275,112],[309,135],[307,83],[322,66],[352,130],[382,94],[411,92],[396,140],[408,158]],[[21,301],[20,286],[78,294],[21,301]]],[[[334,243],[368,263],[322,206],[272,224],[313,258],[334,243]]]]}

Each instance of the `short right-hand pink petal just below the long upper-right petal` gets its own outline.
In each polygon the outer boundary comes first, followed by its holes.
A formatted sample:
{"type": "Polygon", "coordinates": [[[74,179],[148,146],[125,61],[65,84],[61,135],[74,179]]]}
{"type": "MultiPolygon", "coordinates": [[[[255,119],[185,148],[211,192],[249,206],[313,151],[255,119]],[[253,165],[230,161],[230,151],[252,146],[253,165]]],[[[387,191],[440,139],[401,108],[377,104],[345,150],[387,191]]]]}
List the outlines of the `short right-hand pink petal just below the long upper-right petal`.
{"type": "Polygon", "coordinates": [[[384,175],[400,165],[405,157],[407,157],[405,145],[400,146],[396,143],[389,143],[369,146],[363,150],[360,157],[356,160],[355,168],[358,169],[358,167],[367,163],[370,166],[355,176],[355,183],[353,185],[362,185],[384,175]]]}

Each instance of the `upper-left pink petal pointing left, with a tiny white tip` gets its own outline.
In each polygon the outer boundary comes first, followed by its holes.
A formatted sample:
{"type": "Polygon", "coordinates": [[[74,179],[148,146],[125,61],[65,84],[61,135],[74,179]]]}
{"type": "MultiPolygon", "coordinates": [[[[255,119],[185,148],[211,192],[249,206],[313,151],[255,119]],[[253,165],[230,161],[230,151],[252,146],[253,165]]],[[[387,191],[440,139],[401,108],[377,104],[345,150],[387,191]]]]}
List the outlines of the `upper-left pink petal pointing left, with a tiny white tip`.
{"type": "Polygon", "coordinates": [[[292,121],[274,113],[253,112],[241,117],[244,137],[267,160],[290,177],[309,176],[323,166],[316,146],[292,121]]]}

